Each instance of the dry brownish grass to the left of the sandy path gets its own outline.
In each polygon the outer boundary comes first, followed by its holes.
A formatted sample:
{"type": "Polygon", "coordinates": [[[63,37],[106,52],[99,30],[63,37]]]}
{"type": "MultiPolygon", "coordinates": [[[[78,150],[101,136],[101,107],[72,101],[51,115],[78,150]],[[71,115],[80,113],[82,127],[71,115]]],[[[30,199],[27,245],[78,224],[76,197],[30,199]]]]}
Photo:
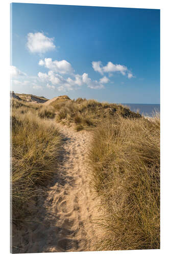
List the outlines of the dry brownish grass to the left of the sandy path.
{"type": "Polygon", "coordinates": [[[11,196],[17,224],[27,219],[28,205],[38,196],[39,185],[43,186],[56,170],[61,140],[55,125],[38,116],[42,106],[12,101],[11,196]]]}

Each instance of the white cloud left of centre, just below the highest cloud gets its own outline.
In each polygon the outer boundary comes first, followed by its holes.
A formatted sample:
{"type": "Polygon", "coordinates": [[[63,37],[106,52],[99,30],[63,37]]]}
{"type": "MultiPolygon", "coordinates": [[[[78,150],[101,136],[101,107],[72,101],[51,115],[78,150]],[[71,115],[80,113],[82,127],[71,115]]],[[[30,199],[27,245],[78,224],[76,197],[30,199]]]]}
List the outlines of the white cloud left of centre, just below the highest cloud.
{"type": "Polygon", "coordinates": [[[41,59],[39,61],[39,65],[61,74],[72,73],[74,71],[71,64],[65,59],[61,61],[53,61],[52,58],[45,58],[44,60],[41,59]]]}

